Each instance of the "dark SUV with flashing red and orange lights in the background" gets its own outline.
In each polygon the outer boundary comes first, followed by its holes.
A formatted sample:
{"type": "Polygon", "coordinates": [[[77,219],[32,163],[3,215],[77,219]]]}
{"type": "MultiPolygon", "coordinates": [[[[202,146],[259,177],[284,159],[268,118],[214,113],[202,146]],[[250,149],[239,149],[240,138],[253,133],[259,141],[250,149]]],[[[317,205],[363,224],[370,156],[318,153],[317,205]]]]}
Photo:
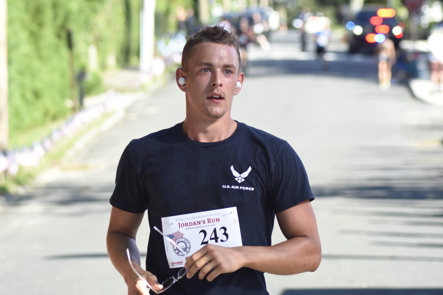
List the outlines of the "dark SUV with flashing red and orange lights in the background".
{"type": "MultiPolygon", "coordinates": [[[[349,53],[373,54],[377,46],[374,36],[380,33],[382,33],[385,38],[390,38],[396,47],[398,46],[403,36],[402,30],[404,27],[402,27],[401,30],[399,28],[394,30],[394,32],[397,33],[394,35],[392,29],[398,27],[399,23],[395,16],[389,15],[389,12],[391,12],[390,15],[395,15],[395,11],[389,8],[363,9],[357,13],[355,19],[346,25],[349,30],[349,53]],[[382,10],[381,13],[379,10],[382,10]],[[377,15],[377,11],[379,11],[379,15],[377,15]],[[388,13],[386,13],[386,11],[388,13]],[[399,31],[401,31],[401,34],[398,34],[399,31]]],[[[384,40],[383,37],[382,39],[384,40]]]]}

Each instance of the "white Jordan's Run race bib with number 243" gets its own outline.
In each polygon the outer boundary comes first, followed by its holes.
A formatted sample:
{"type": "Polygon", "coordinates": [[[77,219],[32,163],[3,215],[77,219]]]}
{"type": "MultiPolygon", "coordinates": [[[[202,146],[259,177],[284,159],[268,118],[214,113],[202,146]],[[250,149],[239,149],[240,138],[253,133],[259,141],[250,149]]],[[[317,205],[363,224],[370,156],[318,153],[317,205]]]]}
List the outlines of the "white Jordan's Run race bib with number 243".
{"type": "MultiPolygon", "coordinates": [[[[171,238],[188,256],[204,245],[242,246],[237,207],[162,218],[163,234],[171,238]]],[[[163,238],[169,268],[183,267],[185,255],[163,238]]]]}

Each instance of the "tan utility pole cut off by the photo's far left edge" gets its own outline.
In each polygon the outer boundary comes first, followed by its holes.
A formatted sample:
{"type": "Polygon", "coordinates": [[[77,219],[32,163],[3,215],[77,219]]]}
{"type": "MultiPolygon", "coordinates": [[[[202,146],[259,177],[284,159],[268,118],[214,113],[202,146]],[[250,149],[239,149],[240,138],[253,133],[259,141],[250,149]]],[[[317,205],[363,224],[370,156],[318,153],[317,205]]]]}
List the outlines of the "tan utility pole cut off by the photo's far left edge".
{"type": "Polygon", "coordinates": [[[8,12],[6,0],[0,0],[0,151],[8,144],[8,12]]]}

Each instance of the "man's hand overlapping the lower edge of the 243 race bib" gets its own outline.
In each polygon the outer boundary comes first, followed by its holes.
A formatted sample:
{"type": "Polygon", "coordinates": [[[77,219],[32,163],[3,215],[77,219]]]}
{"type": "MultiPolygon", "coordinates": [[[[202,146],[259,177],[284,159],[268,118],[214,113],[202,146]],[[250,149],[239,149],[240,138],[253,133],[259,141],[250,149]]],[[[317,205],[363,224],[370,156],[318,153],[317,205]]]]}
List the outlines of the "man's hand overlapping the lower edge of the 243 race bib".
{"type": "Polygon", "coordinates": [[[209,273],[207,280],[210,282],[222,273],[235,272],[244,266],[245,255],[242,248],[227,248],[211,244],[204,246],[187,259],[185,268],[190,268],[187,278],[192,278],[199,269],[198,278],[203,280],[209,273]]]}

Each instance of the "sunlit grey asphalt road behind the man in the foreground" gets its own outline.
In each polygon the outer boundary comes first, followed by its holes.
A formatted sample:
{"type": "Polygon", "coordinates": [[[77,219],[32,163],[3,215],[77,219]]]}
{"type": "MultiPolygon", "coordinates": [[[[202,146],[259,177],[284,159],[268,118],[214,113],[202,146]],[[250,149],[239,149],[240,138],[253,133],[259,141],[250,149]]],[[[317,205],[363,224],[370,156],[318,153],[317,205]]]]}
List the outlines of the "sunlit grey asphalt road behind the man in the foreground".
{"type": "MultiPolygon", "coordinates": [[[[375,63],[331,62],[323,73],[317,61],[254,62],[233,118],[297,151],[317,196],[323,245],[316,272],[266,274],[271,295],[443,288],[443,109],[415,100],[404,85],[381,92],[375,63]]],[[[115,169],[132,138],[182,121],[184,107],[183,93],[167,84],[64,166],[89,169],[46,171],[47,184],[6,203],[0,294],[127,294],[105,248],[115,169]]],[[[276,226],[273,243],[282,240],[276,226]]],[[[146,218],[141,252],[147,242],[146,218]]]]}

